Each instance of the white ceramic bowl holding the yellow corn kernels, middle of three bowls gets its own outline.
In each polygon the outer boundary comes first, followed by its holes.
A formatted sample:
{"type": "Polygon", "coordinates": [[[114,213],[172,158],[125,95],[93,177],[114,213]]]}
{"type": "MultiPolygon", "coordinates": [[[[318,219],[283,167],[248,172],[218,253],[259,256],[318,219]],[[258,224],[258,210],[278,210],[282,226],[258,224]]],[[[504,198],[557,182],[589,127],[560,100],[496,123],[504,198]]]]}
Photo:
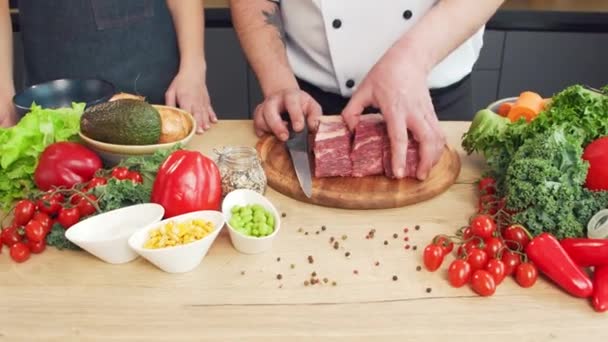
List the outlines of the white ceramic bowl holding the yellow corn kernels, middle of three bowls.
{"type": "Polygon", "coordinates": [[[174,216],[166,220],[148,225],[147,227],[135,232],[129,239],[129,246],[156,267],[168,273],[184,273],[195,269],[217,238],[218,234],[224,227],[224,216],[219,211],[203,210],[195,211],[179,216],[174,216]],[[169,221],[177,223],[192,219],[201,219],[213,223],[213,231],[204,238],[175,247],[166,247],[160,249],[143,248],[148,240],[149,233],[152,229],[157,229],[169,221]]]}

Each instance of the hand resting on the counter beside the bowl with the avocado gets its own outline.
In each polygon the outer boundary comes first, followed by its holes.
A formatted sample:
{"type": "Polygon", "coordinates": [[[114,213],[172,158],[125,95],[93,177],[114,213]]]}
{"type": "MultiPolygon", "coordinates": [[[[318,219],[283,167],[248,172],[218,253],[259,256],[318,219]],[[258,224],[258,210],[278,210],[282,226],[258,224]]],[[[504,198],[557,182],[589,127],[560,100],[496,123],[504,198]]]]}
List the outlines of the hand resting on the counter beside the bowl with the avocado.
{"type": "Polygon", "coordinates": [[[165,103],[173,107],[178,105],[192,113],[198,125],[198,134],[210,129],[211,124],[217,122],[217,115],[211,106],[205,84],[204,71],[180,70],[165,93],[165,103]]]}

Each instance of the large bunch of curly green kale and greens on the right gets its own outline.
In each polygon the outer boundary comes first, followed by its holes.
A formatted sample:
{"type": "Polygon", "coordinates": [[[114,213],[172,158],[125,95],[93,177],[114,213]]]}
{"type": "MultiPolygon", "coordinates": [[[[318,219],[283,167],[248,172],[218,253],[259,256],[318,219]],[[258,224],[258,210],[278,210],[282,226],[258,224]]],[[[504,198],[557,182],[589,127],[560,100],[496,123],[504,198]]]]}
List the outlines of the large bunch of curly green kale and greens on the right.
{"type": "Polygon", "coordinates": [[[485,157],[513,222],[535,235],[581,237],[608,205],[608,192],[584,188],[589,164],[582,159],[587,144],[608,135],[607,92],[568,87],[530,123],[504,121],[489,110],[476,114],[462,146],[485,157]]]}

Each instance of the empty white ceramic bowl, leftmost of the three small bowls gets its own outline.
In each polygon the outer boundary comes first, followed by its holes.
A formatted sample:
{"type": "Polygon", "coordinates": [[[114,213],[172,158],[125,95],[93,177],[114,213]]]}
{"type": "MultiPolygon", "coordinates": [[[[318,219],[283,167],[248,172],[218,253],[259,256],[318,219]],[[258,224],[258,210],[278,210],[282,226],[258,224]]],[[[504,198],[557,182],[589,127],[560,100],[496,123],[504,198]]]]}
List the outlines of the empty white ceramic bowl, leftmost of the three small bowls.
{"type": "Polygon", "coordinates": [[[80,221],[65,232],[68,240],[110,264],[137,258],[127,241],[133,232],[160,221],[165,214],[154,203],[137,204],[80,221]]]}

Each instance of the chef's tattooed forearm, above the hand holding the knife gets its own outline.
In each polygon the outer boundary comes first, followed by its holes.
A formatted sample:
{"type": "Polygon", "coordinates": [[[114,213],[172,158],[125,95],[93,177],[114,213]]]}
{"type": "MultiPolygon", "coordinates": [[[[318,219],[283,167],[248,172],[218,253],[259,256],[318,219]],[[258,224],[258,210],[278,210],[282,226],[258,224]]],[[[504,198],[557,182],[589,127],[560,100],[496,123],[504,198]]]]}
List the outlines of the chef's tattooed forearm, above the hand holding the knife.
{"type": "Polygon", "coordinates": [[[264,95],[298,88],[287,60],[278,5],[268,0],[230,0],[232,21],[264,95]]]}

